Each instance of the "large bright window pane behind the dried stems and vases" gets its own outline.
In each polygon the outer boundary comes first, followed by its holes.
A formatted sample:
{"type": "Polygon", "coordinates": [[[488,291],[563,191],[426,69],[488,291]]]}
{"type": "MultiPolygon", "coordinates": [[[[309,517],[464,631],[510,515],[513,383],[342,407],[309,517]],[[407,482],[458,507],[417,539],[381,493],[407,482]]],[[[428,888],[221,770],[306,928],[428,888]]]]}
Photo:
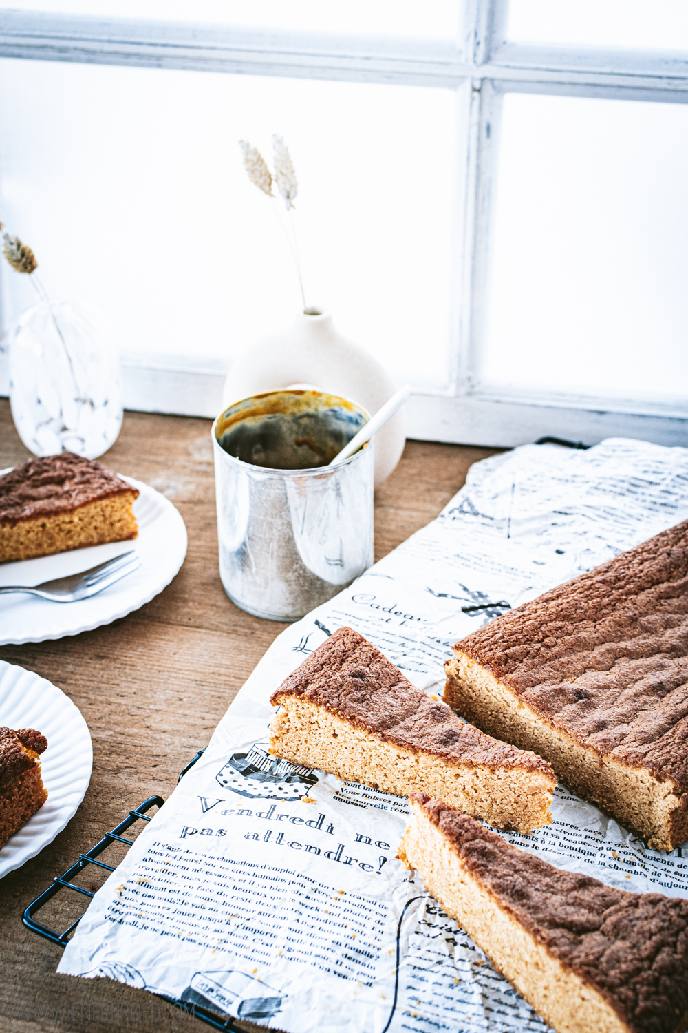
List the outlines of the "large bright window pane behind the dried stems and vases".
{"type": "MultiPolygon", "coordinates": [[[[56,296],[130,355],[225,367],[300,307],[272,202],[237,142],[284,135],[306,300],[399,378],[447,380],[450,90],[0,62],[2,220],[56,296]]],[[[5,324],[32,303],[2,262],[5,324]]]]}

